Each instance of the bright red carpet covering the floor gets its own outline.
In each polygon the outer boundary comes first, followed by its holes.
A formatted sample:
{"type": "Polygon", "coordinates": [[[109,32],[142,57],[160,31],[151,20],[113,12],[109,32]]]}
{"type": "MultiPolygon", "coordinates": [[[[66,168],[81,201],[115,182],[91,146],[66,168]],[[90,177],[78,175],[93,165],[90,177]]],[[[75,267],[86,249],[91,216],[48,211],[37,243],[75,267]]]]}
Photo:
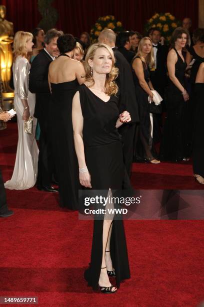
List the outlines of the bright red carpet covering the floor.
{"type": "MultiPolygon", "coordinates": [[[[11,174],[16,123],[0,131],[0,168],[11,174]]],[[[139,189],[198,189],[191,165],[136,164],[139,189]],[[143,183],[143,185],[142,185],[143,183]]],[[[57,205],[57,195],[7,190],[14,215],[0,219],[0,296],[38,296],[39,306],[198,306],[204,301],[203,221],[125,221],[131,279],[117,293],[86,286],[92,221],[57,205]]],[[[14,306],[14,304],[13,304],[14,306]]]]}

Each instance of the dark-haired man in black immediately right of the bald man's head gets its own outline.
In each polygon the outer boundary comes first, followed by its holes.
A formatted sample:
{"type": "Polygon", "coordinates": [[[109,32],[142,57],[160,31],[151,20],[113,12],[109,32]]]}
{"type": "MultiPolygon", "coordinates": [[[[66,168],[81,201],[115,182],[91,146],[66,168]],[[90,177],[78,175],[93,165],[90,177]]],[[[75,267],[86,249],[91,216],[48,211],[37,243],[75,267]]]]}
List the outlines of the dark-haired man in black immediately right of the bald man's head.
{"type": "Polygon", "coordinates": [[[120,32],[117,36],[118,51],[125,57],[131,65],[131,61],[135,56],[134,52],[129,51],[131,48],[130,33],[128,31],[120,32]]]}

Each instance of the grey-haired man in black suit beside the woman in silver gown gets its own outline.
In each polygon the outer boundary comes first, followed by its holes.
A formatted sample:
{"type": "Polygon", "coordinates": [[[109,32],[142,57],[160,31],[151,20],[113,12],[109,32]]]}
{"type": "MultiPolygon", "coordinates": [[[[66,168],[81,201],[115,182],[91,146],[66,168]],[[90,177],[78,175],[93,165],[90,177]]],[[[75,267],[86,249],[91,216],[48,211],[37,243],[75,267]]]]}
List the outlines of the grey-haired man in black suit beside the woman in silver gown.
{"type": "Polygon", "coordinates": [[[46,192],[57,192],[57,189],[51,186],[55,168],[48,127],[51,98],[48,85],[48,68],[49,64],[59,55],[56,41],[62,34],[61,31],[56,29],[47,31],[44,37],[45,48],[32,61],[29,73],[29,90],[31,93],[35,93],[34,117],[38,119],[40,126],[36,186],[38,190],[46,192]]]}

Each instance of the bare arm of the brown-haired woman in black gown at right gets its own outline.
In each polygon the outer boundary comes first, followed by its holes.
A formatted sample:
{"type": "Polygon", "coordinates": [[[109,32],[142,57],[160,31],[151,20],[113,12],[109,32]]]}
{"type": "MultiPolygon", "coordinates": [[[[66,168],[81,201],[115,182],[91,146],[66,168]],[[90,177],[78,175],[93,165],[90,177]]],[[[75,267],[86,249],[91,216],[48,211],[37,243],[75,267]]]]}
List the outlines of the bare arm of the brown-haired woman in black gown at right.
{"type": "Polygon", "coordinates": [[[189,99],[188,93],[184,89],[184,87],[180,84],[178,79],[175,76],[175,63],[177,62],[177,55],[174,50],[170,50],[167,55],[167,69],[169,79],[173,82],[173,84],[181,91],[183,95],[183,99],[187,101],[189,99]]]}

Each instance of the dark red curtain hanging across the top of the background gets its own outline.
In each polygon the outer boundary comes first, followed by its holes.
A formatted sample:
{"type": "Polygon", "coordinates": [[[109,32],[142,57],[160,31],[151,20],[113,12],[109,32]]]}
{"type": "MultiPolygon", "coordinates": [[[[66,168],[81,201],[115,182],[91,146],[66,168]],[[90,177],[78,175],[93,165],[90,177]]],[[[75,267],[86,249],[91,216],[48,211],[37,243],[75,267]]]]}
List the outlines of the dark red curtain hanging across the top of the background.
{"type": "MultiPolygon", "coordinates": [[[[37,0],[0,0],[0,4],[6,6],[6,19],[13,22],[14,31],[31,31],[41,18],[37,0]]],[[[114,15],[125,30],[141,33],[154,13],[169,12],[180,20],[190,17],[192,29],[198,23],[198,0],[55,0],[53,6],[58,11],[56,27],[74,36],[89,32],[97,18],[104,15],[114,15]]]]}

